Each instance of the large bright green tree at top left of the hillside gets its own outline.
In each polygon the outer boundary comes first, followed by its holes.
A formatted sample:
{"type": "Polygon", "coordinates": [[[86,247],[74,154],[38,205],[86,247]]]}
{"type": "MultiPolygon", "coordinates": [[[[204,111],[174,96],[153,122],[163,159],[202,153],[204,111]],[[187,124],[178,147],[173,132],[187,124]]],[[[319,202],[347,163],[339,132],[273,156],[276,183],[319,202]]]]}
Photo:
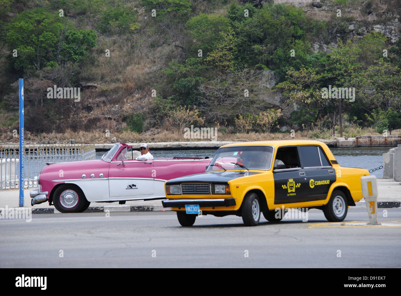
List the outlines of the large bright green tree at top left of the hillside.
{"type": "Polygon", "coordinates": [[[96,45],[93,30],[71,29],[72,24],[43,8],[22,12],[9,25],[7,44],[17,50],[14,67],[36,71],[67,62],[81,63],[96,45]]]}

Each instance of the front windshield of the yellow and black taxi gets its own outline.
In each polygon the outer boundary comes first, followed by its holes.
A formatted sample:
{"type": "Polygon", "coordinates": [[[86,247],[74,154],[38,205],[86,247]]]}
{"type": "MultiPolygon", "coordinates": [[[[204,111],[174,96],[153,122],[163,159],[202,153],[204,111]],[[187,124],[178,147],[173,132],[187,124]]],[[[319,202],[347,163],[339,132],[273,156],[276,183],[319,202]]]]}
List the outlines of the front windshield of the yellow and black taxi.
{"type": "Polygon", "coordinates": [[[207,171],[229,169],[269,170],[271,166],[271,146],[235,146],[217,150],[207,171]]]}

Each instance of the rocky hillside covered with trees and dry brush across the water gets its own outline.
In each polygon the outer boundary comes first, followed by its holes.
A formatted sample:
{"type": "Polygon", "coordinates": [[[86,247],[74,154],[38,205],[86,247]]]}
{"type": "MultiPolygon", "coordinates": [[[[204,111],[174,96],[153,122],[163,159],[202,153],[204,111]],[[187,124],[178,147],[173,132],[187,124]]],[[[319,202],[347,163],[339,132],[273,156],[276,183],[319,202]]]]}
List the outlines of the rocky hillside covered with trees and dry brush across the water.
{"type": "Polygon", "coordinates": [[[338,100],[319,93],[329,85],[356,88],[345,120],[401,126],[393,115],[401,0],[6,0],[0,8],[3,141],[18,127],[19,77],[32,134],[190,124],[334,130],[338,100]],[[54,85],[79,87],[80,100],[49,97],[54,85]]]}

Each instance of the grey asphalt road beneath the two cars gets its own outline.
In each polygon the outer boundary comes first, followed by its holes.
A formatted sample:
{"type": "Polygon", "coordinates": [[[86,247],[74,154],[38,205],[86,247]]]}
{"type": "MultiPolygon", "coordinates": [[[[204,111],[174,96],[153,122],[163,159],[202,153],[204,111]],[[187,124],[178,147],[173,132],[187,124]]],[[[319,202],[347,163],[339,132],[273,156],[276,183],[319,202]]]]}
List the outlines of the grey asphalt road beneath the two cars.
{"type": "Polygon", "coordinates": [[[401,210],[386,210],[382,217],[379,209],[379,221],[398,227],[354,226],[368,221],[366,209],[355,208],[344,225],[327,223],[318,210],[309,211],[308,222],[270,223],[262,216],[256,227],[243,226],[241,217],[210,215],[181,227],[174,212],[2,219],[0,267],[399,268],[401,210]]]}

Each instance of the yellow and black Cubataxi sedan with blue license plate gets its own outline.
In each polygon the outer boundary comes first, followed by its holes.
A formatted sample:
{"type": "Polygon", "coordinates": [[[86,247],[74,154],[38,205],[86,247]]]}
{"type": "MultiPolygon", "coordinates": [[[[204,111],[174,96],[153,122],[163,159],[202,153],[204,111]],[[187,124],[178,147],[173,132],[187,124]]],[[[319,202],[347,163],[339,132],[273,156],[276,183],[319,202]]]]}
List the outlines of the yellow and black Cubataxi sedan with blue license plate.
{"type": "Polygon", "coordinates": [[[321,209],[330,222],[345,219],[362,199],[363,168],[342,167],[326,144],[313,140],[239,142],[221,146],[206,172],[168,180],[164,207],[182,226],[202,215],[241,216],[247,226],[279,221],[275,209],[321,209]]]}

